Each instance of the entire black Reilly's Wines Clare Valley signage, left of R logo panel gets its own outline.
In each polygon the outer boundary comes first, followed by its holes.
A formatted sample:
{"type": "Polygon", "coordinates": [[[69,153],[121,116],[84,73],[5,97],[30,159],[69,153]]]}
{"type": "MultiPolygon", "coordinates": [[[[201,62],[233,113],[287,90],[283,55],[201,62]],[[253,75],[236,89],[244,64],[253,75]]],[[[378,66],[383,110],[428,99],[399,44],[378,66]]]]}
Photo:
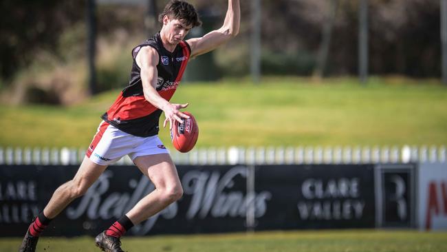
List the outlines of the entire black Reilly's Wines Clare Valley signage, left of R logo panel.
{"type": "MultiPolygon", "coordinates": [[[[0,236],[22,236],[77,169],[0,166],[0,236]]],[[[127,234],[246,231],[249,208],[256,230],[374,227],[373,165],[265,165],[254,170],[254,191],[249,192],[244,165],[177,166],[184,196],[127,234]]],[[[109,167],[44,235],[96,235],[153,189],[136,167],[109,167]]]]}

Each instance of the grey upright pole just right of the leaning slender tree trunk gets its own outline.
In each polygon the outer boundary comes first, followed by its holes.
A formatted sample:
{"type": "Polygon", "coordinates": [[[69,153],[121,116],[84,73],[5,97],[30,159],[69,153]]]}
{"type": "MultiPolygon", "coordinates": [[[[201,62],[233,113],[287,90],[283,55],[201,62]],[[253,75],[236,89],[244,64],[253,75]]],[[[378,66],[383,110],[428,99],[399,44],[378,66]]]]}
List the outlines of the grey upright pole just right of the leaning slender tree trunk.
{"type": "Polygon", "coordinates": [[[358,22],[358,70],[360,83],[366,85],[368,78],[368,0],[360,0],[358,22]]]}

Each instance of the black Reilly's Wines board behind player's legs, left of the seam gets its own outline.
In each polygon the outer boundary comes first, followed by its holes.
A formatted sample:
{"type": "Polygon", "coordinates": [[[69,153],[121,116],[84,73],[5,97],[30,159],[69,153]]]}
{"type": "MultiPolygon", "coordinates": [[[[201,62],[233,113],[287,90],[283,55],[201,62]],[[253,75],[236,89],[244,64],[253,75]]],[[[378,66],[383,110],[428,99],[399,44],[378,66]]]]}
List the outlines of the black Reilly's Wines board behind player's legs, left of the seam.
{"type": "MultiPolygon", "coordinates": [[[[58,186],[71,180],[74,166],[1,166],[0,236],[22,236],[33,216],[58,186]]],[[[130,235],[245,231],[244,166],[178,166],[184,196],[133,227],[130,235]]],[[[153,191],[133,166],[109,167],[81,198],[74,200],[45,230],[45,235],[96,235],[153,191]]]]}

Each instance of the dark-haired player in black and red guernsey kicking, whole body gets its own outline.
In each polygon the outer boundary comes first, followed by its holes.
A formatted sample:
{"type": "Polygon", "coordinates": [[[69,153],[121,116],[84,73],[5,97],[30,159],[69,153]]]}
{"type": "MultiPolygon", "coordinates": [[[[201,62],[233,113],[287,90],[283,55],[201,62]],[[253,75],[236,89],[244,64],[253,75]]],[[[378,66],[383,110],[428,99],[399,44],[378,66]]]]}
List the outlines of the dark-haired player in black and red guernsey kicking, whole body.
{"type": "Polygon", "coordinates": [[[30,224],[19,251],[35,251],[39,235],[50,221],[75,198],[82,196],[112,162],[129,155],[140,171],[155,185],[109,229],[96,236],[103,251],[122,251],[120,237],[133,225],[147,220],[182,197],[177,170],[157,136],[160,115],[163,126],[182,122],[180,111],[186,104],[169,103],[182,78],[188,60],[210,52],[239,32],[239,0],[228,0],[225,21],[218,30],[184,41],[195,26],[201,25],[195,8],[185,1],[171,0],[160,14],[162,30],[135,47],[129,85],[102,115],[102,123],[72,180],[58,187],[50,202],[30,224]]]}

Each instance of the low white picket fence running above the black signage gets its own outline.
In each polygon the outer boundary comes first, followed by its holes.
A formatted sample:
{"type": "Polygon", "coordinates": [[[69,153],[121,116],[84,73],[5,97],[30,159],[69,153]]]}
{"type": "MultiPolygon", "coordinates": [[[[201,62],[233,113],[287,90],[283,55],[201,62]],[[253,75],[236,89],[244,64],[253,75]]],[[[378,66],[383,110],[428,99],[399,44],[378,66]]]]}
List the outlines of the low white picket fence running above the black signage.
{"type": "MultiPolygon", "coordinates": [[[[0,165],[78,165],[85,148],[0,147],[0,165]]],[[[187,154],[171,150],[177,165],[294,165],[446,162],[445,146],[210,147],[187,154]]],[[[125,156],[116,165],[132,165],[125,156]]]]}

